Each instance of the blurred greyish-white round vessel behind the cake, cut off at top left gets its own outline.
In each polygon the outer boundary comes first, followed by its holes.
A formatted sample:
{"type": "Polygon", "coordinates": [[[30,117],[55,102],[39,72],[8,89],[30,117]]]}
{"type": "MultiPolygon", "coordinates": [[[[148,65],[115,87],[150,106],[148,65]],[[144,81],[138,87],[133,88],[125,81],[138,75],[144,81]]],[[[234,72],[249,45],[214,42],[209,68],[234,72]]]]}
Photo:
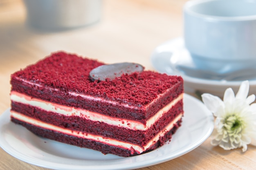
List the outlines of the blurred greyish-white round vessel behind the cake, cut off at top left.
{"type": "Polygon", "coordinates": [[[58,31],[96,23],[101,18],[101,0],[24,0],[27,24],[58,31]]]}

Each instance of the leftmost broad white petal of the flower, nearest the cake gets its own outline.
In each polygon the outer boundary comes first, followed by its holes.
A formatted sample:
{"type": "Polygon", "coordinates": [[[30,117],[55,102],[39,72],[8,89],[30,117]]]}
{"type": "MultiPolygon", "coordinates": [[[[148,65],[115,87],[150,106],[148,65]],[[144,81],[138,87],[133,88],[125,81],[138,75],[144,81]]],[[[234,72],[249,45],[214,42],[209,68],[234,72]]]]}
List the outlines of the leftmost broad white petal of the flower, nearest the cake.
{"type": "Polygon", "coordinates": [[[204,102],[205,106],[212,112],[216,113],[219,106],[224,105],[220,97],[211,95],[209,93],[202,94],[202,101],[204,102]]]}

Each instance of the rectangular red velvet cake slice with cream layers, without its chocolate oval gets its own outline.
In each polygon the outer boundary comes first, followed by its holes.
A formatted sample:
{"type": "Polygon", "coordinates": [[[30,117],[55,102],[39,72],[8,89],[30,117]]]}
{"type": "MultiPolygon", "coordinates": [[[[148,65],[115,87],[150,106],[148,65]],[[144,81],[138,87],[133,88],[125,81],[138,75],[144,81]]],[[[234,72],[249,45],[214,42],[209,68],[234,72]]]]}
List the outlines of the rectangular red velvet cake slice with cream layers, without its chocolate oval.
{"type": "Polygon", "coordinates": [[[122,157],[155,150],[181,126],[183,79],[155,71],[95,80],[104,64],[63,51],[11,75],[11,121],[40,137],[122,157]]]}

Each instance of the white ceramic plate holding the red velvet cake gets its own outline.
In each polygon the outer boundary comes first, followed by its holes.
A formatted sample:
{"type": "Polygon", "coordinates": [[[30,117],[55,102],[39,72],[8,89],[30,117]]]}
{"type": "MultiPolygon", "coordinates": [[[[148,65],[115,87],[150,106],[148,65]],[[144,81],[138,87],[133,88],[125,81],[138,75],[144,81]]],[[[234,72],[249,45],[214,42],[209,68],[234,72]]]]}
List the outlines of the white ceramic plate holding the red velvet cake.
{"type": "Polygon", "coordinates": [[[103,155],[38,137],[26,128],[10,122],[9,109],[0,116],[0,146],[7,153],[45,168],[56,170],[128,170],[168,161],[198,147],[213,131],[213,115],[198,99],[184,95],[182,126],[164,146],[134,157],[103,155]]]}

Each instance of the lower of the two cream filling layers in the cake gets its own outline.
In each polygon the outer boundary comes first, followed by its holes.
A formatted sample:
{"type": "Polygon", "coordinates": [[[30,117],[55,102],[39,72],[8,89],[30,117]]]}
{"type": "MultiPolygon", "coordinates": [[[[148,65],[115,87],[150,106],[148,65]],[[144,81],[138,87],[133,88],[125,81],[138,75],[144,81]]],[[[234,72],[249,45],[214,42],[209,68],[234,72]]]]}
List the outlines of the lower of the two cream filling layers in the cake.
{"type": "Polygon", "coordinates": [[[173,119],[173,121],[168,124],[164,130],[162,130],[161,132],[159,132],[153,139],[151,139],[145,146],[141,147],[135,144],[130,144],[128,142],[124,142],[124,141],[118,141],[115,139],[111,139],[111,138],[106,138],[106,137],[102,137],[99,135],[92,135],[89,133],[83,133],[81,131],[75,131],[75,130],[68,130],[65,128],[60,128],[58,126],[54,126],[52,124],[47,124],[45,122],[39,121],[37,119],[32,119],[31,117],[27,117],[25,115],[22,115],[21,113],[17,113],[14,111],[11,111],[11,117],[18,119],[20,121],[24,121],[28,124],[32,124],[34,126],[38,126],[40,128],[45,128],[48,130],[54,130],[57,132],[61,132],[63,134],[67,134],[67,135],[71,135],[71,136],[75,136],[75,137],[80,137],[80,138],[84,138],[84,139],[89,139],[89,140],[93,140],[93,141],[98,141],[101,142],[103,144],[107,144],[107,145],[111,145],[111,146],[116,146],[116,147],[120,147],[120,148],[125,148],[128,150],[132,150],[132,148],[138,153],[140,154],[141,152],[144,152],[145,150],[147,150],[148,148],[150,148],[150,146],[152,146],[153,144],[155,144],[160,137],[164,136],[164,134],[168,131],[170,131],[174,124],[177,123],[177,121],[179,121],[183,116],[183,113],[180,113],[177,117],[175,117],[175,119],[173,119]]]}

